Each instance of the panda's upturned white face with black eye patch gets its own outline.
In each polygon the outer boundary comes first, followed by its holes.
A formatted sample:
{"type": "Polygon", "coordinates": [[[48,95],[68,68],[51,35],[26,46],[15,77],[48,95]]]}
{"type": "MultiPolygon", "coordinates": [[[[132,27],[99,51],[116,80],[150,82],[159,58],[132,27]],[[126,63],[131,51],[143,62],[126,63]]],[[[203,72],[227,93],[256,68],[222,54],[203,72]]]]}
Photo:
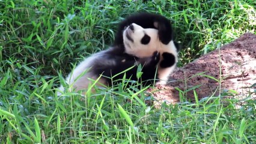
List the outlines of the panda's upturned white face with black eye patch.
{"type": "Polygon", "coordinates": [[[154,51],[162,47],[157,29],[144,29],[135,23],[124,28],[123,43],[125,53],[137,57],[150,56],[154,51]]]}

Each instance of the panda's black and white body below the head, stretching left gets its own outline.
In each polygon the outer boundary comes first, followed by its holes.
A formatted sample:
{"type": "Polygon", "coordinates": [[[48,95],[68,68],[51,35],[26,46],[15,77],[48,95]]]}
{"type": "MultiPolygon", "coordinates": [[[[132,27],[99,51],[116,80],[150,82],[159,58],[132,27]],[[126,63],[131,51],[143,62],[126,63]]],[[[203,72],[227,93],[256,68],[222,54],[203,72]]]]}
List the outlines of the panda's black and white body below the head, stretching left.
{"type": "MultiPolygon", "coordinates": [[[[66,78],[67,84],[75,91],[87,89],[88,85],[91,85],[93,80],[98,79],[102,74],[102,77],[97,83],[112,85],[112,80],[116,81],[123,78],[123,74],[115,76],[116,74],[133,66],[135,67],[126,72],[126,78],[137,80],[136,73],[139,64],[143,67],[142,80],[147,80],[149,77],[153,79],[156,65],[160,59],[159,53],[154,52],[148,58],[139,59],[126,53],[116,55],[115,49],[116,47],[110,47],[108,50],[103,50],[86,58],[66,78]],[[112,76],[115,76],[114,79],[110,79],[112,76]]],[[[59,89],[61,91],[64,90],[62,86],[59,89]]]]}

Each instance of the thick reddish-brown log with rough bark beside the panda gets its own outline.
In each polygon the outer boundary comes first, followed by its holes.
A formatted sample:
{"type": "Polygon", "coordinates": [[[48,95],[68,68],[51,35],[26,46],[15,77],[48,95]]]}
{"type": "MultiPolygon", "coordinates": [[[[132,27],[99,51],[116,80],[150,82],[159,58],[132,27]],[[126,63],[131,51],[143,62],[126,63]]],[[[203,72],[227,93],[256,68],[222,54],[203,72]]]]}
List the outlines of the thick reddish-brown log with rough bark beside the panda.
{"type": "Polygon", "coordinates": [[[164,101],[178,103],[180,94],[187,100],[194,100],[195,92],[199,99],[220,94],[255,98],[255,83],[256,35],[246,33],[184,67],[176,68],[168,85],[148,91],[158,104],[164,101]]]}

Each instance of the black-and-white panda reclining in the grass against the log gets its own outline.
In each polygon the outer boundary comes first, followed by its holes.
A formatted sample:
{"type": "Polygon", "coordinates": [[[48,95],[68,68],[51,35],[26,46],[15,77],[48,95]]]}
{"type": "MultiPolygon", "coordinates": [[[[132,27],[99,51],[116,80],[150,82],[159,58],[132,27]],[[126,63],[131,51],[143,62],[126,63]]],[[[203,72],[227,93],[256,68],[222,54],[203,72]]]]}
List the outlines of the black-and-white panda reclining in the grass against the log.
{"type": "MultiPolygon", "coordinates": [[[[171,24],[168,20],[156,14],[128,17],[120,23],[114,45],[82,61],[66,78],[67,84],[75,91],[87,89],[93,83],[92,79],[96,80],[102,74],[99,82],[112,85],[112,81],[123,78],[123,74],[119,73],[127,68],[130,70],[126,71],[126,77],[138,80],[139,64],[142,65],[142,82],[154,80],[158,66],[157,78],[160,83],[165,83],[177,62],[177,49],[169,28],[171,24]],[[139,17],[144,21],[138,21],[139,17]],[[152,17],[154,19],[150,19],[152,17]]],[[[63,86],[59,89],[64,91],[63,86]]]]}

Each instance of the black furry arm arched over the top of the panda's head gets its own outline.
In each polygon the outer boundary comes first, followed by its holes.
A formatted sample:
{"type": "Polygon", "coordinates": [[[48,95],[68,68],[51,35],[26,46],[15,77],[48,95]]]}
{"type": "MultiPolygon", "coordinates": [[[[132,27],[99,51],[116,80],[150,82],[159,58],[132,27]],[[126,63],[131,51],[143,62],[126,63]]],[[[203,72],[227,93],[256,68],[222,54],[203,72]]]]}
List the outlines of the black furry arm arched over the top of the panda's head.
{"type": "Polygon", "coordinates": [[[142,26],[142,28],[154,28],[159,30],[159,39],[163,44],[168,44],[173,39],[171,23],[159,14],[138,13],[127,17],[118,26],[115,35],[114,46],[123,44],[123,30],[132,23],[142,26]],[[157,23],[157,28],[154,23],[157,23]]]}

